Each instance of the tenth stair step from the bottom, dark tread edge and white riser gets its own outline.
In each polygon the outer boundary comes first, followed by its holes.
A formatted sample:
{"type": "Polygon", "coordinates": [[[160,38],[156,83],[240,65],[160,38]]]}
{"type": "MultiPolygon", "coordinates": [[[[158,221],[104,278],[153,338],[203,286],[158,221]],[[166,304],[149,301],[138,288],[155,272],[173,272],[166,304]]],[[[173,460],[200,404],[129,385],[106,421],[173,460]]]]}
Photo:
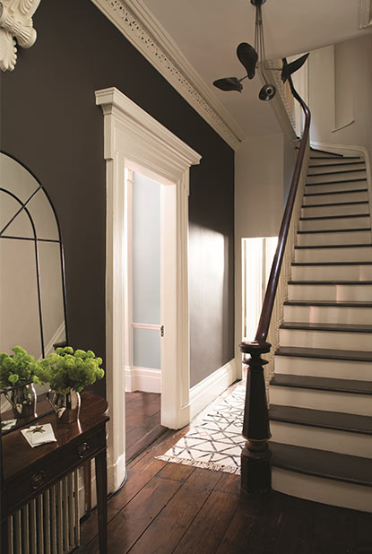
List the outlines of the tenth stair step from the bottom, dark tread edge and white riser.
{"type": "Polygon", "coordinates": [[[316,229],[299,230],[298,247],[316,247],[327,245],[348,245],[348,244],[372,244],[371,229],[316,229]]]}

